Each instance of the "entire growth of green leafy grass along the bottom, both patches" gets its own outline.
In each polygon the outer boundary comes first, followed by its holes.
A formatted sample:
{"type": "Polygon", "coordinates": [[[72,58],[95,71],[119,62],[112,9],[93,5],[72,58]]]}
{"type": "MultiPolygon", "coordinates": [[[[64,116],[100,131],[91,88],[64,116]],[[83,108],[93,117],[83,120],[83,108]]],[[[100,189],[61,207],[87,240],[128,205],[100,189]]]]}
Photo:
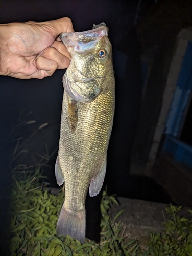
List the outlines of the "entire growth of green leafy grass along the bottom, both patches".
{"type": "MultiPolygon", "coordinates": [[[[114,196],[103,192],[101,201],[101,241],[86,239],[84,244],[70,236],[58,236],[56,223],[64,201],[62,189],[52,195],[39,183],[40,170],[13,172],[14,187],[11,198],[12,256],[192,256],[192,220],[180,216],[181,206],[166,208],[163,234],[151,234],[147,250],[143,251],[136,240],[127,241],[120,211],[114,219],[108,214],[110,205],[117,204],[114,196]]],[[[192,210],[188,210],[192,214],[192,210]]]]}

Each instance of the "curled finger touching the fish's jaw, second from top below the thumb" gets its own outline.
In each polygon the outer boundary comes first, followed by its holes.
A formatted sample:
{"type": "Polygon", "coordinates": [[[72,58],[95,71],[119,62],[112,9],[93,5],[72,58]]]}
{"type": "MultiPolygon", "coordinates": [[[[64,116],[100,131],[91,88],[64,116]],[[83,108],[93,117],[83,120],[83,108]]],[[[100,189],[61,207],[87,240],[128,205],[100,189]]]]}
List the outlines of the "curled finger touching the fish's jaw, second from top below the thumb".
{"type": "Polygon", "coordinates": [[[46,59],[50,59],[57,62],[58,69],[66,69],[70,64],[70,60],[65,55],[58,52],[57,49],[54,47],[47,47],[43,51],[43,53],[40,54],[40,56],[43,56],[46,59]]]}

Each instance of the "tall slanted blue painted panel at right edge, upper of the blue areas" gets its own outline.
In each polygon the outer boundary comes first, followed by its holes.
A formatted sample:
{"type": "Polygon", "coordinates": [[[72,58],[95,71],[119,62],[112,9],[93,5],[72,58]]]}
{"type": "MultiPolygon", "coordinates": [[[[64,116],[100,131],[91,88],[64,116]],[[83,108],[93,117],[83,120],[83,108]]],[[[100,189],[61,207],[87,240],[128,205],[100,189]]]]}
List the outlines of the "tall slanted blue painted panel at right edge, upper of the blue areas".
{"type": "Polygon", "coordinates": [[[192,42],[188,42],[176,91],[165,124],[165,134],[179,137],[192,91],[192,42]]]}

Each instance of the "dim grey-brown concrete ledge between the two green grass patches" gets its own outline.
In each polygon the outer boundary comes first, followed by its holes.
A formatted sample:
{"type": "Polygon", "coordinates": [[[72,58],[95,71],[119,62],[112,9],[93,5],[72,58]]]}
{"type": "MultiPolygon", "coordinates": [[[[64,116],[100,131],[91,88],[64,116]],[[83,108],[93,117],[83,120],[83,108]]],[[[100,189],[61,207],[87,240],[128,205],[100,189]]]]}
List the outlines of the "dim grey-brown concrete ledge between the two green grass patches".
{"type": "MultiPolygon", "coordinates": [[[[137,239],[141,246],[147,247],[146,242],[151,240],[150,233],[163,233],[167,215],[165,207],[168,204],[154,203],[130,198],[118,198],[120,205],[113,205],[110,214],[114,218],[124,209],[124,212],[116,219],[122,222],[122,231],[128,240],[137,239]]],[[[187,207],[181,211],[181,215],[189,218],[187,207]]]]}

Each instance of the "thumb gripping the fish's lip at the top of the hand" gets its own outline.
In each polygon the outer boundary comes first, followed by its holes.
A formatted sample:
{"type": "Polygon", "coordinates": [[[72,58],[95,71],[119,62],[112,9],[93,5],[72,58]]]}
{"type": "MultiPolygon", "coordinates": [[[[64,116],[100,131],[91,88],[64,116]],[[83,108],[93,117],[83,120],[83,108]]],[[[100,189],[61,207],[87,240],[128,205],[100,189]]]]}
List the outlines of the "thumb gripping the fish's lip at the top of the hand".
{"type": "Polygon", "coordinates": [[[70,18],[64,17],[50,22],[44,22],[44,25],[47,25],[51,30],[51,34],[57,37],[61,33],[70,33],[74,32],[73,24],[70,18]]]}

